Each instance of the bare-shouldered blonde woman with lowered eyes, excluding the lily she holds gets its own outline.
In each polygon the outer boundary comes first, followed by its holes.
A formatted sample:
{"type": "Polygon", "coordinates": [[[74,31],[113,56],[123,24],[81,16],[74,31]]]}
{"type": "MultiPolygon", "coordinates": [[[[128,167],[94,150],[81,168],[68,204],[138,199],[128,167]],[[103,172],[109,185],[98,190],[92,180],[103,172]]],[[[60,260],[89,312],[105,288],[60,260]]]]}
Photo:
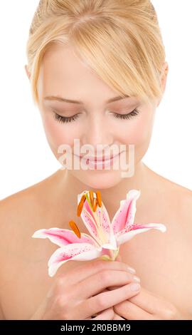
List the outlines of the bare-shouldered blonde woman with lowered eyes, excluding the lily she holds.
{"type": "Polygon", "coordinates": [[[41,0],[27,56],[55,158],[65,143],[75,160],[74,139],[80,147],[126,145],[128,154],[134,144],[134,173],[61,168],[1,201],[1,319],[192,319],[191,190],[142,162],[169,69],[151,1],[41,0]],[[141,190],[135,221],[164,223],[166,233],[139,234],[114,262],[67,262],[48,277],[55,245],[33,232],[68,229],[74,218],[87,232],[76,217],[78,194],[100,190],[112,219],[132,189],[141,190]]]}

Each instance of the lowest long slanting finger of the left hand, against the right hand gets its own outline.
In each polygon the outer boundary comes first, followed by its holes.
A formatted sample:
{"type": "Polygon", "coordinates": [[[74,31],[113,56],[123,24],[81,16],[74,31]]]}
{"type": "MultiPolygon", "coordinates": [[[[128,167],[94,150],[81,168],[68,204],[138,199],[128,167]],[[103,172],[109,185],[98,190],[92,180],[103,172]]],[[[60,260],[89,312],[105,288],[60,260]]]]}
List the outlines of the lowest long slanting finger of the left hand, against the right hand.
{"type": "Polygon", "coordinates": [[[79,305],[80,308],[78,308],[76,313],[80,314],[80,319],[85,319],[85,317],[88,317],[89,315],[94,315],[114,306],[115,304],[119,304],[119,302],[129,299],[138,293],[138,291],[132,290],[133,285],[135,287],[136,283],[124,285],[119,289],[114,289],[113,291],[102,292],[97,294],[95,297],[82,301],[82,304],[79,305]],[[87,315],[85,315],[85,311],[87,311],[87,315]]]}

